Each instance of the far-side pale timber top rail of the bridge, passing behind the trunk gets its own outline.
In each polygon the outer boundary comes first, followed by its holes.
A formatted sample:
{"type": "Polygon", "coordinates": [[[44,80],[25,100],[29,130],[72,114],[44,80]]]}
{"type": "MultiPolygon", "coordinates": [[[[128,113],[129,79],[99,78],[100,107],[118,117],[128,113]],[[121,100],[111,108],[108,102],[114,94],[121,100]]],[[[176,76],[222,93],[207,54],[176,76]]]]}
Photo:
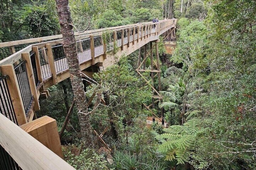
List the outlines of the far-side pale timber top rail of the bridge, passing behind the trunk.
{"type": "MultiPolygon", "coordinates": [[[[172,20],[172,19],[168,19],[172,20]]],[[[164,20],[160,20],[159,22],[162,22],[164,20]]],[[[88,35],[92,33],[98,33],[102,31],[108,31],[108,30],[121,30],[123,28],[128,28],[128,27],[133,27],[133,26],[138,26],[138,25],[146,25],[152,22],[144,22],[144,23],[136,23],[136,24],[129,24],[129,25],[123,25],[123,26],[114,26],[114,27],[108,27],[108,28],[100,28],[100,29],[93,29],[93,30],[88,30],[84,32],[75,32],[75,36],[82,36],[82,35],[88,35]]],[[[54,36],[45,36],[45,37],[38,37],[38,38],[32,38],[32,39],[23,39],[23,40],[16,40],[16,41],[10,41],[10,42],[1,42],[0,43],[0,48],[3,47],[11,47],[15,45],[22,45],[22,44],[27,44],[27,43],[33,43],[33,42],[41,42],[41,41],[46,41],[46,40],[51,40],[51,39],[61,39],[62,34],[59,35],[54,35],[54,36]]]]}

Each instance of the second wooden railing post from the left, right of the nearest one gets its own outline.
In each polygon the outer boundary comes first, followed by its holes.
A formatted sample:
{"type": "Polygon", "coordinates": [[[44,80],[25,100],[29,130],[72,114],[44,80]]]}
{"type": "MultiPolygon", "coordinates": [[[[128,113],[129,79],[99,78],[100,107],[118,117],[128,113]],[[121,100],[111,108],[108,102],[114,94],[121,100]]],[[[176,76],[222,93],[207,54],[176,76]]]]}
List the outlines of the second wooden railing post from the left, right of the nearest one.
{"type": "Polygon", "coordinates": [[[36,90],[36,84],[35,84],[30,54],[29,53],[21,53],[21,56],[22,56],[23,60],[26,60],[25,66],[27,69],[28,82],[29,82],[31,93],[34,96],[34,102],[35,102],[34,110],[38,111],[38,110],[40,110],[40,106],[39,106],[39,101],[38,101],[38,96],[37,96],[37,90],[36,90]]]}

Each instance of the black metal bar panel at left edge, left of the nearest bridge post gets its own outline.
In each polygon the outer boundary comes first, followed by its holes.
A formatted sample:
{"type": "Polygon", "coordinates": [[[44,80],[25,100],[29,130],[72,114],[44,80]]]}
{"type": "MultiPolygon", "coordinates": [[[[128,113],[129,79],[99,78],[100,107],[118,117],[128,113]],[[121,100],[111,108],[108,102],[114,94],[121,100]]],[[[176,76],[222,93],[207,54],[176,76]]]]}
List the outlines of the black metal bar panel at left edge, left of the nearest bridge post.
{"type": "Polygon", "coordinates": [[[6,82],[7,78],[8,76],[0,77],[0,112],[2,115],[18,125],[17,118],[11,102],[10,91],[6,82]]]}

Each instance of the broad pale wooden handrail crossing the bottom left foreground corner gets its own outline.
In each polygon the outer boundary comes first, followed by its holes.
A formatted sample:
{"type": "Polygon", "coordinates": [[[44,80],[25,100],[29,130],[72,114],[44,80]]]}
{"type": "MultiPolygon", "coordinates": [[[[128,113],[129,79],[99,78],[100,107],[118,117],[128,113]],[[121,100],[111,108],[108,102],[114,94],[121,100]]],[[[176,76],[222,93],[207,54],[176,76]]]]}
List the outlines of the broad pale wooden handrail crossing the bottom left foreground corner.
{"type": "Polygon", "coordinates": [[[0,114],[0,145],[23,170],[75,170],[71,165],[0,114]]]}

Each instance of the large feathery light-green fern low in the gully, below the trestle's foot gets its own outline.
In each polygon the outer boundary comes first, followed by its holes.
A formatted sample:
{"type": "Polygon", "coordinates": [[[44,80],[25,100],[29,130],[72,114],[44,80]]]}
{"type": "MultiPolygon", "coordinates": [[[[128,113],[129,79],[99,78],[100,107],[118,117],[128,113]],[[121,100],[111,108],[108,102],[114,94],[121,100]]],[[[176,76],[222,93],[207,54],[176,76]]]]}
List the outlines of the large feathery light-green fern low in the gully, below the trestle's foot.
{"type": "Polygon", "coordinates": [[[166,154],[166,160],[176,159],[178,164],[189,161],[190,150],[198,132],[197,123],[196,119],[191,119],[183,126],[172,125],[163,129],[165,132],[163,134],[152,132],[153,136],[161,143],[159,151],[166,154]]]}

